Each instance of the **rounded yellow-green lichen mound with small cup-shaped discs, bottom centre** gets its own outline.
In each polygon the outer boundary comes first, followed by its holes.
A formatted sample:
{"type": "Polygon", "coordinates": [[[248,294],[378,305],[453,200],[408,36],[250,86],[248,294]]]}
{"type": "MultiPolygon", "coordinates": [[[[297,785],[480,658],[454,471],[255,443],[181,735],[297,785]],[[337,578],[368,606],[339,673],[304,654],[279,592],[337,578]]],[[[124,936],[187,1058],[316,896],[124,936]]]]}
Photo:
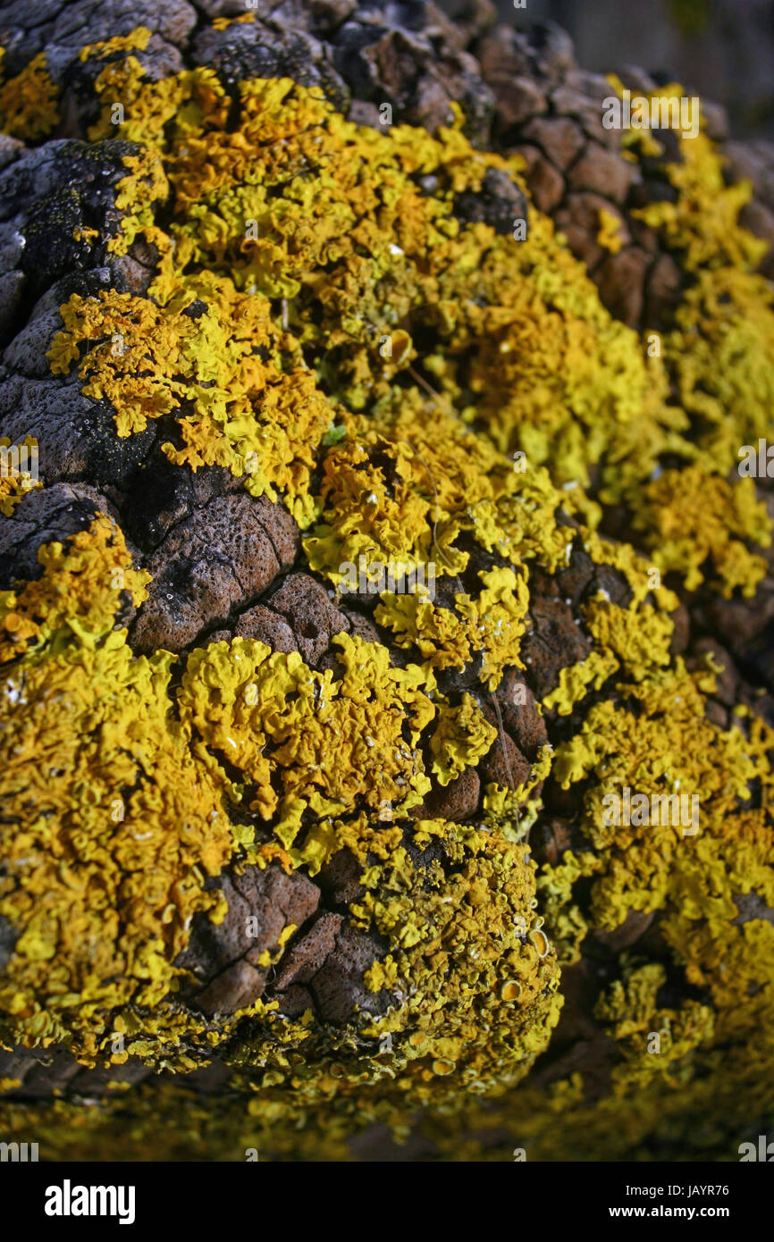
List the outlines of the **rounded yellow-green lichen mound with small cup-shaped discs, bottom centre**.
{"type": "Polygon", "coordinates": [[[388,1011],[338,1031],[308,1015],[303,1049],[275,1052],[268,1073],[255,1068],[267,1064],[255,1028],[244,1025],[226,1052],[272,1148],[296,1149],[302,1117],[335,1146],[371,1122],[405,1133],[407,1100],[453,1115],[466,1094],[523,1078],[558,1018],[555,955],[523,846],[441,820],[371,830],[370,843],[352,917],[386,946],[365,981],[390,995],[388,1011]]]}

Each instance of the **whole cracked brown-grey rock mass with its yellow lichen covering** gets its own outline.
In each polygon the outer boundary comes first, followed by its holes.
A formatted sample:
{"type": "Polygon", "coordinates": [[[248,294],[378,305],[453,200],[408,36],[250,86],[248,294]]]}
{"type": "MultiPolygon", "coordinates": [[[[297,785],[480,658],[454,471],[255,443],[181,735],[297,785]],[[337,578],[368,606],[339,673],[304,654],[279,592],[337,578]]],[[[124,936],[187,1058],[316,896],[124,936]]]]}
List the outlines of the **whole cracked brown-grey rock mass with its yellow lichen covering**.
{"type": "Polygon", "coordinates": [[[621,147],[553,26],[198,10],[4,9],[4,1134],[729,1154],[774,308],[717,117],[621,147]]]}

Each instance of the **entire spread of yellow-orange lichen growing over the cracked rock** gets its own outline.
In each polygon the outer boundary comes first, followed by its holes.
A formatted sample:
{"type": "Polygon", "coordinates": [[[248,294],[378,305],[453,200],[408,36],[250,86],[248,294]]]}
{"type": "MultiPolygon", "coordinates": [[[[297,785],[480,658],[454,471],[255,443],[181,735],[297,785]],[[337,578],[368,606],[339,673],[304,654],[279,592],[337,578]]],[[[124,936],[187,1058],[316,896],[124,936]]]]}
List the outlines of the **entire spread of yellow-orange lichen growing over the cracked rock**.
{"type": "MultiPolygon", "coordinates": [[[[20,933],[0,1035],[181,1076],[216,1053],[239,1102],[205,1105],[181,1077],[112,1112],[41,1107],[35,1133],[77,1155],[130,1115],[138,1141],[150,1126],[171,1158],[340,1158],[369,1124],[405,1138],[419,1118],[455,1159],[502,1159],[519,1140],[530,1158],[578,1158],[603,1134],[609,1159],[653,1135],[717,1146],[774,1064],[774,925],[735,922],[734,904],[754,893],[774,907],[774,737],[752,714],[713,724],[716,673],[688,671],[670,645],[678,586],[750,596],[767,569],[765,508],[752,481],[727,477],[737,447],[765,435],[774,384],[743,191],[723,186],[707,138],[682,143],[675,202],[645,209],[690,277],[653,350],[532,204],[523,241],[466,221],[488,173],[528,193],[519,160],[475,150],[461,116],[436,137],[380,133],[289,79],[234,96],[210,68],[154,82],[132,55],[147,36],[82,58],[101,66],[89,140],[137,144],[108,250],[142,240],[155,274],[143,296],[73,294],[52,371],[77,369],[118,436],[166,419],[170,462],[226,467],[285,503],[306,568],[332,590],[360,555],[434,561],[442,590],[383,592],[384,642],[338,636],[340,674],[247,638],[134,653],[127,610],[148,575],[107,517],[41,549],[41,576],[0,594],[0,914],[20,933]],[[641,553],[600,535],[612,504],[641,553]],[[489,782],[475,822],[427,817],[431,782],[496,744],[472,691],[486,700],[506,669],[529,679],[534,581],[575,553],[627,597],[600,590],[580,606],[589,655],[542,704],[571,732],[527,781],[489,782]],[[466,691],[442,681],[471,666],[466,691]],[[527,836],[549,775],[583,806],[583,846],[538,868],[527,836]],[[697,794],[701,831],[604,827],[604,794],[626,785],[697,794]],[[384,1012],[334,1027],[262,1000],[229,1017],[186,1007],[176,959],[195,917],[224,917],[207,879],[277,861],[314,877],[344,848],[364,889],[348,918],[384,946],[365,974],[384,1012]],[[660,912],[667,956],[624,953],[599,997],[617,1054],[608,1094],[584,1099],[571,1072],[550,1092],[516,1090],[549,1046],[562,969],[629,912],[660,912]],[[665,1000],[675,980],[691,989],[680,1002],[665,1000]],[[168,1093],[175,1134],[158,1120],[168,1093]]],[[[6,129],[27,140],[56,124],[43,73],[34,61],[0,88],[6,129]]],[[[652,158],[644,147],[631,158],[652,158]]],[[[12,1130],[31,1114],[2,1115],[12,1130]]]]}

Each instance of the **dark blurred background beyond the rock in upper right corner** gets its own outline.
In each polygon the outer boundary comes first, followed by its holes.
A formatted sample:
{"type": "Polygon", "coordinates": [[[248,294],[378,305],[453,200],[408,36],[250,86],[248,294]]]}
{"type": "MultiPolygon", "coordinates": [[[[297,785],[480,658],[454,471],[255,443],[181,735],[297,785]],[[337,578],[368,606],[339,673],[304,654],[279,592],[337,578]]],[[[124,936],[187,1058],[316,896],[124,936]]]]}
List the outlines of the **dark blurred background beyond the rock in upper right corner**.
{"type": "MultiPolygon", "coordinates": [[[[455,16],[473,0],[436,0],[455,16]]],[[[486,0],[488,2],[488,0],[486,0]]],[[[724,104],[735,137],[774,137],[774,0],[494,0],[502,21],[552,19],[585,70],[637,65],[724,104]]]]}

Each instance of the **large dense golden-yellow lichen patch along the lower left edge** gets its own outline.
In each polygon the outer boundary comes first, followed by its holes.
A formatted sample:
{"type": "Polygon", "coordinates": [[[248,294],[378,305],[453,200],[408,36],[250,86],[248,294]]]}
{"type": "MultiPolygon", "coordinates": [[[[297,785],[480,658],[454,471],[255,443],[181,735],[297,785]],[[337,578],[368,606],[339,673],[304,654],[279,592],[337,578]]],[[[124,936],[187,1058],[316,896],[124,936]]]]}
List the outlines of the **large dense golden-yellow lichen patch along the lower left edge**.
{"type": "Polygon", "coordinates": [[[232,851],[212,782],[198,773],[168,696],[173,657],[134,658],[113,628],[142,599],[107,519],[40,556],[43,576],[0,597],[0,913],[20,933],[1,986],[6,1035],[80,1032],[158,1005],[204,892],[232,851]],[[21,658],[19,658],[21,656],[21,658]]]}

